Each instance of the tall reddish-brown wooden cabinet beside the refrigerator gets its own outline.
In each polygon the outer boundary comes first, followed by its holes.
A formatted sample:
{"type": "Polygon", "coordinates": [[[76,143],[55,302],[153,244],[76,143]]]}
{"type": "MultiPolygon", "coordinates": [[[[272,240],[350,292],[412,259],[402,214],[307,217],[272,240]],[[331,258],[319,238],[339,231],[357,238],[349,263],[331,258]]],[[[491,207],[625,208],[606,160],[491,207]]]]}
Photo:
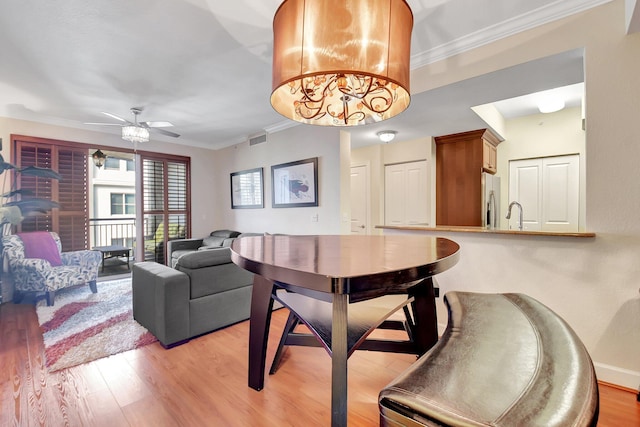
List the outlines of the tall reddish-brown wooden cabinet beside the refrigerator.
{"type": "Polygon", "coordinates": [[[498,137],[489,129],[435,137],[436,225],[481,227],[482,172],[497,171],[498,137]]]}

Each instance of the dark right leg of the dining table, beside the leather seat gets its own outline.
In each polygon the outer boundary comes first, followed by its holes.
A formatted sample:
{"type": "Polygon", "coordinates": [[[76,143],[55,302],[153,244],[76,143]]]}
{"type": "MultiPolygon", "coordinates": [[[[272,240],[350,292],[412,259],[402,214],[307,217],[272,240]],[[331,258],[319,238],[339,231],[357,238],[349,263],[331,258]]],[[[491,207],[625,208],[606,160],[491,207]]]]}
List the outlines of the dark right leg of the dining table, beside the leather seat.
{"type": "Polygon", "coordinates": [[[415,342],[419,355],[426,353],[438,342],[438,317],[436,314],[436,294],[433,278],[429,277],[409,290],[415,298],[413,314],[415,316],[415,342]]]}

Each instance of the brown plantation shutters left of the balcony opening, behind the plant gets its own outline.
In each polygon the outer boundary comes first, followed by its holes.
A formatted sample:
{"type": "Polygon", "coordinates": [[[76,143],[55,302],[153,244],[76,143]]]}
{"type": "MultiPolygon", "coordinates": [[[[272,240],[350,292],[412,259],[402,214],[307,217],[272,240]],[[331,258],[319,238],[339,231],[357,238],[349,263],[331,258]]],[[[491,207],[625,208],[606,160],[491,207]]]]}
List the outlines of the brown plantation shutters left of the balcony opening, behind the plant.
{"type": "Polygon", "coordinates": [[[25,218],[20,231],[55,231],[64,251],[89,247],[87,149],[66,141],[14,137],[15,163],[57,171],[61,180],[17,174],[17,188],[30,196],[57,201],[59,209],[25,218]]]}

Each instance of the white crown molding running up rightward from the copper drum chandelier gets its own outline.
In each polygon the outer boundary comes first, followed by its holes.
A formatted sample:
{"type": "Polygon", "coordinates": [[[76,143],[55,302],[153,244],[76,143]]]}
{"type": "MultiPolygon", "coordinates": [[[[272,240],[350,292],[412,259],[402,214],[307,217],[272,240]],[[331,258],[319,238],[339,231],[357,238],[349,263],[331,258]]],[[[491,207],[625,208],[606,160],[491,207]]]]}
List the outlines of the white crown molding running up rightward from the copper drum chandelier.
{"type": "Polygon", "coordinates": [[[524,15],[492,25],[481,31],[465,35],[449,43],[411,56],[411,69],[420,68],[437,61],[458,55],[471,49],[487,45],[505,37],[526,31],[558,19],[609,3],[612,0],[557,0],[524,15]]]}

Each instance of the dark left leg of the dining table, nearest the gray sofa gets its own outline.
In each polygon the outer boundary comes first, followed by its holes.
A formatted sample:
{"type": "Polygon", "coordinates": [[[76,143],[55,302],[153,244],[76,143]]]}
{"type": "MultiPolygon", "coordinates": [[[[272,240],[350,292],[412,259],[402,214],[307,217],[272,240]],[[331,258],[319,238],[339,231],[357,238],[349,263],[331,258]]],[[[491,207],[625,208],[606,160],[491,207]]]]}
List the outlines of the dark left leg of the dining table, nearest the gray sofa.
{"type": "Polygon", "coordinates": [[[257,274],[254,275],[249,323],[249,387],[258,391],[264,387],[273,288],[273,282],[257,274]]]}

